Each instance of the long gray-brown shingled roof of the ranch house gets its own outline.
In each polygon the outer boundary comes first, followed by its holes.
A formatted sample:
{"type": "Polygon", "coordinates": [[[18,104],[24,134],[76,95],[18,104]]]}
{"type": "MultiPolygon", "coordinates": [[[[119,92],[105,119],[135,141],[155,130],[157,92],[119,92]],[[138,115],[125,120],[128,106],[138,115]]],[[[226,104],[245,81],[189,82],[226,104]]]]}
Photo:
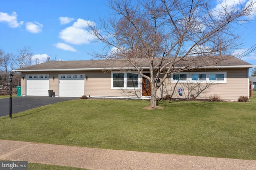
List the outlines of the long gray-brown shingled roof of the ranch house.
{"type": "MultiPolygon", "coordinates": [[[[174,58],[165,58],[162,65],[174,58]]],[[[211,56],[211,57],[186,57],[182,61],[178,61],[174,66],[176,67],[200,67],[200,68],[252,68],[254,65],[242,61],[232,56],[211,56]]],[[[145,58],[131,59],[143,68],[149,68],[148,60],[145,58]]],[[[155,63],[158,63],[161,58],[155,58],[155,63]]],[[[46,63],[36,64],[14,71],[65,71],[65,70],[104,70],[104,69],[132,69],[134,66],[126,59],[112,59],[112,60],[85,60],[85,61],[50,61],[46,63]]]]}

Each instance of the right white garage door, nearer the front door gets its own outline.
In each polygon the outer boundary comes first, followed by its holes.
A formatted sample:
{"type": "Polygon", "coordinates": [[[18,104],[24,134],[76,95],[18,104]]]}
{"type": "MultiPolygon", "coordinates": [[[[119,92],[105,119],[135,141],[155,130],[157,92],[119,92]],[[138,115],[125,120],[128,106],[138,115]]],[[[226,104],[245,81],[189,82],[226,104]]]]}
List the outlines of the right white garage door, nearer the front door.
{"type": "Polygon", "coordinates": [[[59,74],[60,97],[84,96],[84,74],[59,74]]]}

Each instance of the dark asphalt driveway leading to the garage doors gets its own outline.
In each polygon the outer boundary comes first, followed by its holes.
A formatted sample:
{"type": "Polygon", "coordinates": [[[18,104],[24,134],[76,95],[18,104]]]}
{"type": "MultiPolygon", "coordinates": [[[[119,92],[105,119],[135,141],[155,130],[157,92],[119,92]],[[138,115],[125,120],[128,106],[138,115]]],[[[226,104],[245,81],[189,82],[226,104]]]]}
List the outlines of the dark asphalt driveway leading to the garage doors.
{"type": "MultiPolygon", "coordinates": [[[[42,97],[42,96],[25,96],[12,98],[12,113],[18,113],[20,111],[25,111],[28,109],[33,109],[40,106],[46,106],[49,104],[54,104],[58,102],[64,102],[67,100],[74,100],[76,98],[68,98],[68,97],[42,97]]],[[[10,99],[4,98],[0,99],[0,117],[9,115],[9,105],[10,99]]]]}

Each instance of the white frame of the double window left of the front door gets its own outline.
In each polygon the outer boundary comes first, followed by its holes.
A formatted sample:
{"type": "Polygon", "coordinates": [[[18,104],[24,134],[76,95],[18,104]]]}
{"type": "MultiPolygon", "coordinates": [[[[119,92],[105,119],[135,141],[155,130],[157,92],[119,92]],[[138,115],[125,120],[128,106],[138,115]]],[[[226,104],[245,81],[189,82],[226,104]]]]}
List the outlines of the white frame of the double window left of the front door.
{"type": "Polygon", "coordinates": [[[141,86],[141,76],[138,72],[116,72],[113,71],[111,72],[111,89],[136,89],[140,90],[141,86]],[[114,73],[122,73],[124,74],[124,87],[113,87],[113,74],[114,73]],[[127,73],[132,73],[132,74],[138,74],[138,87],[127,87],[127,73]]]}

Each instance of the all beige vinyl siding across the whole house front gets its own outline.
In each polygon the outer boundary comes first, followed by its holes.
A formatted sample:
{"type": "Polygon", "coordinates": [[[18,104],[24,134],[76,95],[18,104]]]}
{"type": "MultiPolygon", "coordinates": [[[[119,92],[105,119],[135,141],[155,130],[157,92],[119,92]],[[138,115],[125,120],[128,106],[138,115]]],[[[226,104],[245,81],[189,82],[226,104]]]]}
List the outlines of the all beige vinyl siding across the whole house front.
{"type": "MultiPolygon", "coordinates": [[[[239,96],[248,96],[248,69],[226,69],[226,70],[200,70],[200,72],[226,72],[226,83],[171,83],[171,76],[166,78],[164,84],[157,91],[157,97],[162,98],[166,94],[173,98],[191,98],[194,95],[198,99],[208,99],[210,95],[220,95],[222,100],[236,101],[239,96]],[[178,88],[183,88],[183,94],[178,94],[178,88]]],[[[58,96],[59,75],[77,74],[84,76],[84,95],[94,97],[129,97],[140,98],[141,89],[111,89],[111,72],[102,71],[70,71],[70,72],[23,72],[24,80],[21,80],[22,95],[26,94],[26,74],[49,74],[49,90],[53,90],[58,96]],[[54,77],[54,80],[53,80],[54,77]]]]}

